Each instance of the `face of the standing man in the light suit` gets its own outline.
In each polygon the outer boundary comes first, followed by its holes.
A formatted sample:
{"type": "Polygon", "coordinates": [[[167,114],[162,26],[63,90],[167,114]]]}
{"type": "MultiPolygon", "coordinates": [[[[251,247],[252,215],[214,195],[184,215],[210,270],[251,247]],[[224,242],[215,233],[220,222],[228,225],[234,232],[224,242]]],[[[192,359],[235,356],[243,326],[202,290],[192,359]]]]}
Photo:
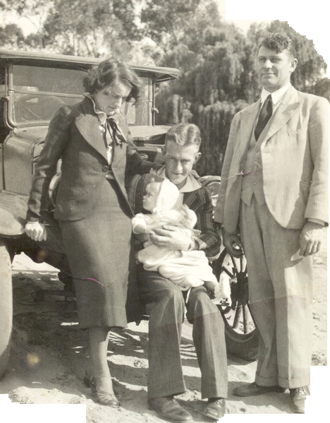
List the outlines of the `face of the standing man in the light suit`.
{"type": "Polygon", "coordinates": [[[273,93],[290,82],[291,73],[297,66],[297,59],[293,59],[288,50],[276,53],[267,47],[260,47],[257,59],[257,69],[262,86],[273,93]]]}

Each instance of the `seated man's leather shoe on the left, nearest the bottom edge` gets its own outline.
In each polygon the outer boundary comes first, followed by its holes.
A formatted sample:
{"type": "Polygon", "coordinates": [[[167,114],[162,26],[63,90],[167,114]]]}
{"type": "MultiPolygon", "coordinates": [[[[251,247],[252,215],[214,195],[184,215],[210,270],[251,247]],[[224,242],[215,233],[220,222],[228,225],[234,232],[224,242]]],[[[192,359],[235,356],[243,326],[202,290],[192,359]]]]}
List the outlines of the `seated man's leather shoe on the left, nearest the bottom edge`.
{"type": "Polygon", "coordinates": [[[148,398],[149,410],[156,411],[162,419],[170,422],[190,422],[193,417],[185,411],[173,395],[148,398]]]}

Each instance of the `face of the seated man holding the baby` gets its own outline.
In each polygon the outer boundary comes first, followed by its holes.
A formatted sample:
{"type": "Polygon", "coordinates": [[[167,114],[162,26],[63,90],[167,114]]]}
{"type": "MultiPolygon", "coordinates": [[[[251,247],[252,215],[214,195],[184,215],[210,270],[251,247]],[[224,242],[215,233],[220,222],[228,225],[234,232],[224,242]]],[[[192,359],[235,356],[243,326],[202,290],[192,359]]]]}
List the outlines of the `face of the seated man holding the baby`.
{"type": "Polygon", "coordinates": [[[185,179],[193,169],[193,165],[200,159],[199,146],[196,144],[178,145],[168,141],[164,148],[165,172],[173,184],[180,189],[185,179]]]}

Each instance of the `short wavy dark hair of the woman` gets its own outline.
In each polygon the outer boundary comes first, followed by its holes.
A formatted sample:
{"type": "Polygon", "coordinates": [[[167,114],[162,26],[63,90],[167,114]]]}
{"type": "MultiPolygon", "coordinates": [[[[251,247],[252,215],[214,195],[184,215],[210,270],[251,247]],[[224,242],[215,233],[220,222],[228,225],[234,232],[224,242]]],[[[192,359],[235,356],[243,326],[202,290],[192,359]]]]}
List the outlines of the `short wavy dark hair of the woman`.
{"type": "Polygon", "coordinates": [[[126,101],[134,98],[135,102],[138,102],[142,81],[133,68],[122,59],[106,59],[98,66],[93,66],[87,72],[82,83],[87,93],[94,94],[102,88],[108,87],[114,81],[120,81],[132,87],[126,101]]]}

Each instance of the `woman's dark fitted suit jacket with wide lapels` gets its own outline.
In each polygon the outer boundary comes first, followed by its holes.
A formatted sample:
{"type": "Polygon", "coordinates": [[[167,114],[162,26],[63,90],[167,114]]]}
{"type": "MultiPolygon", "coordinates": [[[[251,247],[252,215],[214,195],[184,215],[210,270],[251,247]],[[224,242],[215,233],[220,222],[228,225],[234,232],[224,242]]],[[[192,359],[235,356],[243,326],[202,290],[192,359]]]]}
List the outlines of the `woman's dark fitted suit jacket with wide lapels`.
{"type": "MultiPolygon", "coordinates": [[[[111,170],[127,201],[125,178],[128,174],[149,172],[152,163],[141,160],[130,136],[126,117],[118,116],[123,142],[114,145],[111,170]]],[[[59,220],[81,220],[92,212],[102,195],[109,163],[99,119],[92,100],[85,97],[73,107],[59,109],[49,125],[44,148],[39,157],[30,193],[27,220],[39,220],[44,208],[49,183],[62,158],[61,181],[56,195],[54,217],[59,220]]],[[[129,213],[129,212],[128,212],[129,213]]],[[[130,211],[131,213],[131,211],[130,211]]],[[[131,213],[133,216],[133,214],[131,213]]]]}

